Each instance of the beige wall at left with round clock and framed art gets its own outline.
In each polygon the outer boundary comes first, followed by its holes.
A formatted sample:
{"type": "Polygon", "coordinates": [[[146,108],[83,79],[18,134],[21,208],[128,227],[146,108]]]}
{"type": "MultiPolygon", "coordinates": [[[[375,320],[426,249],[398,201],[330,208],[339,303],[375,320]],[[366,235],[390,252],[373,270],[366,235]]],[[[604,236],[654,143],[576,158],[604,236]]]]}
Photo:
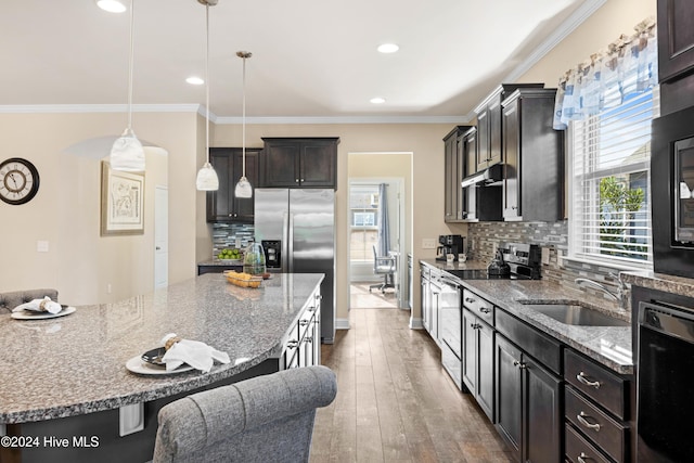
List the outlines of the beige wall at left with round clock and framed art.
{"type": "Polygon", "coordinates": [[[169,187],[169,246],[176,249],[169,254],[169,281],[194,275],[195,118],[194,113],[134,116],[139,137],[166,150],[145,150],[145,233],[102,237],[100,155],[95,150],[82,150],[83,155],[64,150],[95,137],[119,134],[124,115],[0,115],[4,152],[31,160],[41,179],[29,203],[0,203],[0,291],[55,287],[61,300],[74,305],[151,292],[157,184],[169,187]],[[49,243],[48,253],[37,252],[38,241],[49,243]]]}

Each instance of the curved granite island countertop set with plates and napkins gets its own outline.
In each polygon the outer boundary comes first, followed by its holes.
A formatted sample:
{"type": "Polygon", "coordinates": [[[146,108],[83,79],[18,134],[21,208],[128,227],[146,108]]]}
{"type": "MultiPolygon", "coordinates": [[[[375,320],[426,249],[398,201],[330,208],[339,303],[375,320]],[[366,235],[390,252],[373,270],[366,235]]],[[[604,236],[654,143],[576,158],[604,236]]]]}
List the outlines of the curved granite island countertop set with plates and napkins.
{"type": "MultiPolygon", "coordinates": [[[[0,316],[0,423],[86,414],[192,390],[279,357],[322,273],[278,273],[260,288],[208,273],[114,304],[80,306],[66,317],[0,316]],[[167,333],[226,351],[231,363],[166,376],[125,364],[167,333]]],[[[63,304],[69,301],[61,300],[63,304]]]]}

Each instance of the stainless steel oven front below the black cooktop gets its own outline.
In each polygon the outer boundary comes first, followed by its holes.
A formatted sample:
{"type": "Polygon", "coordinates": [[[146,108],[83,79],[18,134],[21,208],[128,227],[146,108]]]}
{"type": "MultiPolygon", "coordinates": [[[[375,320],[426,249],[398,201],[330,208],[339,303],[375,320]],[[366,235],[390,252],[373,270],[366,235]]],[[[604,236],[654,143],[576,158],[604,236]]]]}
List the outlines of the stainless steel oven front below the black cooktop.
{"type": "Polygon", "coordinates": [[[439,329],[441,363],[459,389],[463,390],[463,336],[462,336],[462,285],[454,279],[441,275],[438,280],[439,329]]]}

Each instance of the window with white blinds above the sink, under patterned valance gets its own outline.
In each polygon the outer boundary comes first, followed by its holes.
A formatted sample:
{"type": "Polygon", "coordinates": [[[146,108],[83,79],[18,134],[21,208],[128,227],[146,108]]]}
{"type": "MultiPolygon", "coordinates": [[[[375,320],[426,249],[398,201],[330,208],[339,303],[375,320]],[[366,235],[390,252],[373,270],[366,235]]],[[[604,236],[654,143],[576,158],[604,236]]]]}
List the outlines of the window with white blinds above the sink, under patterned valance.
{"type": "Polygon", "coordinates": [[[651,266],[651,119],[658,103],[655,88],[570,123],[569,257],[651,266]]]}

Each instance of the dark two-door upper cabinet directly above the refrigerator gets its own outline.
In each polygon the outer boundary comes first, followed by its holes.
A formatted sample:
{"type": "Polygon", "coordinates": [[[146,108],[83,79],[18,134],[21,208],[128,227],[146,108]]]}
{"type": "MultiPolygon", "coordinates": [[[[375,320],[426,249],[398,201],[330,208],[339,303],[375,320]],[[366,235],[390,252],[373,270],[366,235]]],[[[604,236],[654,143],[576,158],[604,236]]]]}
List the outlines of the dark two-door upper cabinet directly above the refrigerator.
{"type": "Polygon", "coordinates": [[[339,138],[264,138],[262,188],[337,188],[339,138]]]}

